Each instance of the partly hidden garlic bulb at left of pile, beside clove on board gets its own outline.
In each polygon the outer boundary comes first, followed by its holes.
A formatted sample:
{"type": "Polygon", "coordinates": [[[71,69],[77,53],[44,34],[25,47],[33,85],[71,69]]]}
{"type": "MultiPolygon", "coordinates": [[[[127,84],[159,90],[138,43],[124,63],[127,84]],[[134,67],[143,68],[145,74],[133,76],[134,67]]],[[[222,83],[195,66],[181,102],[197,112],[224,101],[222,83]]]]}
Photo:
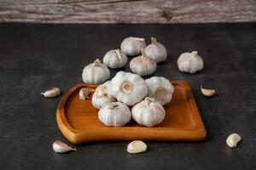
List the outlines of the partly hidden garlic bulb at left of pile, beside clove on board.
{"type": "Polygon", "coordinates": [[[95,93],[92,95],[91,103],[96,109],[100,109],[103,105],[116,101],[109,93],[110,81],[99,85],[95,93]]]}

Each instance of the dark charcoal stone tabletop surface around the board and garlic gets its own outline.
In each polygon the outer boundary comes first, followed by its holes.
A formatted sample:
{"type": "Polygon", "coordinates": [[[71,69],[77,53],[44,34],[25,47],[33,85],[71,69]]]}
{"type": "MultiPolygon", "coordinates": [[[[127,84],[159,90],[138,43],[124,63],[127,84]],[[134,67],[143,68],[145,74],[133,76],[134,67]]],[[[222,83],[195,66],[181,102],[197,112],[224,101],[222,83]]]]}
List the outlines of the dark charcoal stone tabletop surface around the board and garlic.
{"type": "Polygon", "coordinates": [[[255,65],[255,23],[0,24],[0,169],[255,169],[255,65]],[[76,152],[55,154],[53,141],[67,142],[55,121],[61,97],[45,99],[40,92],[51,87],[67,92],[82,82],[84,65],[119,48],[128,36],[147,41],[154,36],[166,46],[169,57],[154,76],[189,82],[207,127],[206,141],[147,142],[148,152],[140,155],[125,151],[128,142],[81,144],[76,152]],[[205,60],[203,71],[179,72],[178,55],[195,49],[205,60]],[[201,84],[216,88],[217,95],[204,97],[201,84]],[[225,139],[234,132],[243,140],[231,150],[225,139]]]}

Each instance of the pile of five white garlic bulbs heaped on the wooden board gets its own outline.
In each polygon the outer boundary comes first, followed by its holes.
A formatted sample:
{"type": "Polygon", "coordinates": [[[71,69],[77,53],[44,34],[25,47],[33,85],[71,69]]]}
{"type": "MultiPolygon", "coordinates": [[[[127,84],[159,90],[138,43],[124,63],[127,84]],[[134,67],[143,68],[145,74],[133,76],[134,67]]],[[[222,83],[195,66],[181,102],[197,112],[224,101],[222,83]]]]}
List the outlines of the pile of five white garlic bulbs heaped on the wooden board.
{"type": "Polygon", "coordinates": [[[144,81],[137,74],[119,71],[111,81],[96,88],[91,102],[106,126],[125,126],[132,118],[142,126],[154,127],[163,122],[163,105],[171,101],[173,92],[172,83],[164,77],[144,81]]]}

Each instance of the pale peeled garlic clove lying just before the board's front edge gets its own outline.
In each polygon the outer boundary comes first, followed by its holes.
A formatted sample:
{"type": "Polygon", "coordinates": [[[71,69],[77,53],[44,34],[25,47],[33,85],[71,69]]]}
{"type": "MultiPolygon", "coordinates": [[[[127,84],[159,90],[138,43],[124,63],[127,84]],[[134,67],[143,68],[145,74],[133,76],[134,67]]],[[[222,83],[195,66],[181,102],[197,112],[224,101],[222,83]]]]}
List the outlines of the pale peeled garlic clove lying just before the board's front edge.
{"type": "Polygon", "coordinates": [[[127,151],[131,154],[138,154],[145,152],[148,149],[147,144],[141,140],[134,140],[127,146],[127,151]]]}

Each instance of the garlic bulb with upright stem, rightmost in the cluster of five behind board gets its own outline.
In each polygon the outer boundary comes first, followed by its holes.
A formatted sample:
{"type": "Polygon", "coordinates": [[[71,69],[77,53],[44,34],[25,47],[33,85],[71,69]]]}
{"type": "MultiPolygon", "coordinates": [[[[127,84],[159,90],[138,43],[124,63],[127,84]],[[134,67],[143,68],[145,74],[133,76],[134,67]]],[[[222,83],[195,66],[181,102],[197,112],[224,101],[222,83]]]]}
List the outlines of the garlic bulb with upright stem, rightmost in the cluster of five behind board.
{"type": "Polygon", "coordinates": [[[151,44],[145,48],[145,54],[160,63],[167,59],[167,51],[165,46],[156,41],[155,37],[151,37],[151,44]]]}

